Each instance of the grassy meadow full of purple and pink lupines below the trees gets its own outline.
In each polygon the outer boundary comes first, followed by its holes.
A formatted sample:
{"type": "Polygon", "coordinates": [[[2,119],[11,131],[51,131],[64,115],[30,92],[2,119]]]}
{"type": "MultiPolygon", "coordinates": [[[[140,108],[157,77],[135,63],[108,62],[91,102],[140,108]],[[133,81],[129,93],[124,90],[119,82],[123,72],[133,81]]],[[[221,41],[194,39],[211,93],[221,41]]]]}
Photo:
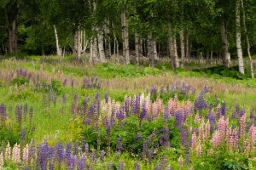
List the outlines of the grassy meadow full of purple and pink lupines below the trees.
{"type": "Polygon", "coordinates": [[[2,59],[0,169],[255,169],[256,81],[199,66],[2,59]]]}

